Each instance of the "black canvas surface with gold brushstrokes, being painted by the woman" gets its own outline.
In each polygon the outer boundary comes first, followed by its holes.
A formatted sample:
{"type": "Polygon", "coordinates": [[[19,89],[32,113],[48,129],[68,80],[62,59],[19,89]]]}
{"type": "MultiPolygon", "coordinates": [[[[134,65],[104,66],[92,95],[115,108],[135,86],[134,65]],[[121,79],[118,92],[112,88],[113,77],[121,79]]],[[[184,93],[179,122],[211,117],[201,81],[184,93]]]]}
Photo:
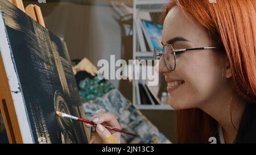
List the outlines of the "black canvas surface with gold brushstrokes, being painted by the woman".
{"type": "Polygon", "coordinates": [[[81,122],[55,113],[83,112],[65,43],[10,2],[0,6],[33,142],[87,143],[81,122]]]}

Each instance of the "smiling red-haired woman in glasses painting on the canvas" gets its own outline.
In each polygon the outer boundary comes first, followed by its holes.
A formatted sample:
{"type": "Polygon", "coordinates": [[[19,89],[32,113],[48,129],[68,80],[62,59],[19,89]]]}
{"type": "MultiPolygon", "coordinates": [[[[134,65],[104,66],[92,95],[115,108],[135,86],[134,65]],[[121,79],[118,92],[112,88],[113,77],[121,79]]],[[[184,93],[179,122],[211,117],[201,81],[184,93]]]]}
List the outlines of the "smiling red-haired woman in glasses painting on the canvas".
{"type": "MultiPolygon", "coordinates": [[[[256,143],[256,1],[174,0],[164,9],[159,72],[177,110],[179,143],[256,143]]],[[[111,143],[97,112],[94,143],[111,143]]],[[[120,134],[112,132],[115,141],[120,134]]]]}

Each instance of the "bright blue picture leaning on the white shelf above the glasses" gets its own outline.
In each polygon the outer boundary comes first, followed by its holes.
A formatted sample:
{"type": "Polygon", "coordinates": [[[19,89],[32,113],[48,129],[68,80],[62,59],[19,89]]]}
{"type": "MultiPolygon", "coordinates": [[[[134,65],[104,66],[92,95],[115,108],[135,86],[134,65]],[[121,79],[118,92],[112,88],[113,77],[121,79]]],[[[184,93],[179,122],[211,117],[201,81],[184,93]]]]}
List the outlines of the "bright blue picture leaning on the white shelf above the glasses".
{"type": "Polygon", "coordinates": [[[146,38],[147,44],[150,48],[150,51],[154,51],[154,48],[159,48],[162,51],[162,32],[163,32],[163,25],[150,22],[148,20],[140,19],[141,20],[141,27],[143,34],[146,38]]]}

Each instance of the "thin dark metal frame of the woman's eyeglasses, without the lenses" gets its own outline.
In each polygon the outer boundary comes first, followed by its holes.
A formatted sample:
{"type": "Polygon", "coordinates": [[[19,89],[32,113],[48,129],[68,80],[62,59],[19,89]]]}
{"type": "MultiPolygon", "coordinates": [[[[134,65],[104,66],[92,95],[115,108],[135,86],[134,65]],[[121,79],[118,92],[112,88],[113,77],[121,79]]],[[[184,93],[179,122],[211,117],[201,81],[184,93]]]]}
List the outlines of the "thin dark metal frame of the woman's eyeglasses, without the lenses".
{"type": "Polygon", "coordinates": [[[214,48],[217,48],[217,47],[197,47],[197,48],[183,48],[183,49],[174,49],[172,47],[172,45],[170,44],[166,44],[166,45],[163,45],[163,51],[160,52],[160,50],[155,47],[154,48],[154,58],[157,60],[159,60],[162,55],[164,56],[164,47],[166,46],[170,46],[172,51],[174,52],[174,69],[170,69],[168,68],[167,64],[166,64],[166,60],[164,58],[164,65],[166,65],[166,67],[170,70],[170,71],[174,71],[175,68],[176,68],[176,53],[181,53],[181,52],[188,52],[188,51],[196,51],[196,50],[206,50],[206,49],[214,49],[214,48]]]}

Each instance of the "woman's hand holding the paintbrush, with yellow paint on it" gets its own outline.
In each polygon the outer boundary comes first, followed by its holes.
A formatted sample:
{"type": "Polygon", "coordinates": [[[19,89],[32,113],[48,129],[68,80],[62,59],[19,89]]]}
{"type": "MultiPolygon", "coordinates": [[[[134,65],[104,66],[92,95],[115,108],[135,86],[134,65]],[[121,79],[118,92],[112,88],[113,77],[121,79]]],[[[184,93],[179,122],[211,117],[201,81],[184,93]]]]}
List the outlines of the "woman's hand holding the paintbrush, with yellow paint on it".
{"type": "Polygon", "coordinates": [[[92,127],[92,131],[90,133],[90,141],[94,144],[112,144],[113,140],[115,143],[120,143],[121,134],[117,131],[108,130],[103,125],[109,125],[113,128],[121,129],[117,119],[113,114],[106,113],[105,110],[96,111],[95,115],[90,118],[96,126],[91,124],[85,124],[86,127],[92,127]],[[112,138],[113,137],[113,138],[112,138]]]}

